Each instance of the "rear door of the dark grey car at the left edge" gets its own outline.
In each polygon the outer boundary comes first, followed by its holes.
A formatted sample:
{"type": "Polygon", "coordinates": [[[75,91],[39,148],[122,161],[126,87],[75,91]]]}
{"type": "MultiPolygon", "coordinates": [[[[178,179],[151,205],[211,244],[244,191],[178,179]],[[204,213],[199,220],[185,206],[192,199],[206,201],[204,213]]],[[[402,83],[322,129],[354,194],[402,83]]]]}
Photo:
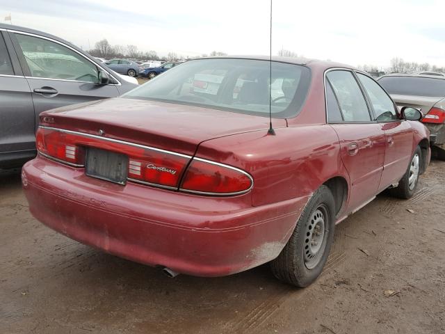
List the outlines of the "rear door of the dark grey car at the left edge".
{"type": "Polygon", "coordinates": [[[34,154],[34,127],[31,90],[8,33],[0,30],[0,162],[34,154]]]}

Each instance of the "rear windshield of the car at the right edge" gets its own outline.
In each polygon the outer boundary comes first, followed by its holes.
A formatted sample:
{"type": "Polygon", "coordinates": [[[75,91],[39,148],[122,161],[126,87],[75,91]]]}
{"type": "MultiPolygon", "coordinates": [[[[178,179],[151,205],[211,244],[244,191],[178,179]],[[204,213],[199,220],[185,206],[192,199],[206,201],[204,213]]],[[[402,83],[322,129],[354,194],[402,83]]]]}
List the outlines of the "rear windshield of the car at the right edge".
{"type": "Polygon", "coordinates": [[[445,80],[421,77],[382,77],[378,83],[389,94],[418,95],[418,96],[445,96],[445,80]]]}

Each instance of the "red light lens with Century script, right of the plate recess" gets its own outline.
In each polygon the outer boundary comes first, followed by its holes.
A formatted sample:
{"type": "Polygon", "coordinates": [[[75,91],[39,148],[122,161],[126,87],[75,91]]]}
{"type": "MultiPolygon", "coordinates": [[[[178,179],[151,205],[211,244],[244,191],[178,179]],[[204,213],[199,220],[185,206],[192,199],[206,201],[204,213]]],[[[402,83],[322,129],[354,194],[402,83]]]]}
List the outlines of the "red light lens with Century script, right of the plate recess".
{"type": "Polygon", "coordinates": [[[152,150],[127,150],[129,179],[175,188],[189,157],[152,150]]]}

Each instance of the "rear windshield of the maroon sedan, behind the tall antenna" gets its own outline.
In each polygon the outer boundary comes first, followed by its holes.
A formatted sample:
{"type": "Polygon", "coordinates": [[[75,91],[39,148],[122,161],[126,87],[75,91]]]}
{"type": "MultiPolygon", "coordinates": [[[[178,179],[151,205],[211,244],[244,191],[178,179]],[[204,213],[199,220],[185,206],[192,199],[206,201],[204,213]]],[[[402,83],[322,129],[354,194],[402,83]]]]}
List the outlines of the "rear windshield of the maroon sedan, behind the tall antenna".
{"type": "Polygon", "coordinates": [[[122,97],[269,116],[295,116],[310,82],[307,67],[251,59],[197,59],[173,67],[122,97]]]}

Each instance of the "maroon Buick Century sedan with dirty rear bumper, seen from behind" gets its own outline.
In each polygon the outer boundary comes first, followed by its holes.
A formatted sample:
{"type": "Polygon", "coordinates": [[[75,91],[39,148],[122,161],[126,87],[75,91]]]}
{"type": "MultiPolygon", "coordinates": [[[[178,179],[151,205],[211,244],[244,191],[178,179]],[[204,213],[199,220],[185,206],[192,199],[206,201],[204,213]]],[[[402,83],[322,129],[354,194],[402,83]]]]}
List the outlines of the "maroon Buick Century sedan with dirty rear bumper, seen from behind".
{"type": "Polygon", "coordinates": [[[385,189],[416,191],[430,161],[421,117],[346,65],[197,59],[42,113],[22,182],[33,216],[83,244],[170,276],[270,262],[305,287],[336,223],[385,189]]]}

